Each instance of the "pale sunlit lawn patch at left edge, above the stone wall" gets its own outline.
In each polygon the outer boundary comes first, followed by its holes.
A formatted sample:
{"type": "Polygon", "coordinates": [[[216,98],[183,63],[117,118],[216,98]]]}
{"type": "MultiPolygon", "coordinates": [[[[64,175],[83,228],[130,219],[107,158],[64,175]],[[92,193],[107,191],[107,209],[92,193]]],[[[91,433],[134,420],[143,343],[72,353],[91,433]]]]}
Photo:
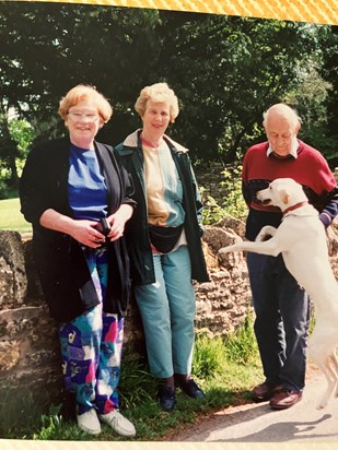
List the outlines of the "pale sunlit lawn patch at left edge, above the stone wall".
{"type": "Polygon", "coordinates": [[[0,229],[11,229],[19,233],[30,233],[31,224],[20,212],[19,199],[0,200],[0,229]]]}

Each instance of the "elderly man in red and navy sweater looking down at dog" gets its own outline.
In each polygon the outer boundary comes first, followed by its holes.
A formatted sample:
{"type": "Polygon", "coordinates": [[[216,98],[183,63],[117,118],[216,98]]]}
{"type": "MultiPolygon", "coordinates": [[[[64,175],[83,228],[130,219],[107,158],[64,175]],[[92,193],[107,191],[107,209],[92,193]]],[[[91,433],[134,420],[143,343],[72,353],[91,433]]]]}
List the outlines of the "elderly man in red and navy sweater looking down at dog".
{"type": "MultiPolygon", "coordinates": [[[[243,163],[243,196],[249,209],[246,238],[255,240],[261,227],[281,223],[280,210],[259,203],[256,193],[283,177],[303,186],[327,227],[338,213],[338,188],[320,153],[298,139],[301,120],[296,112],[284,104],[273,105],[264,114],[263,125],[268,141],[253,145],[243,163]]],[[[308,296],[287,270],[281,254],[248,252],[247,267],[266,378],[252,396],[257,402],[270,401],[273,410],[284,410],[302,400],[305,384],[308,296]]]]}

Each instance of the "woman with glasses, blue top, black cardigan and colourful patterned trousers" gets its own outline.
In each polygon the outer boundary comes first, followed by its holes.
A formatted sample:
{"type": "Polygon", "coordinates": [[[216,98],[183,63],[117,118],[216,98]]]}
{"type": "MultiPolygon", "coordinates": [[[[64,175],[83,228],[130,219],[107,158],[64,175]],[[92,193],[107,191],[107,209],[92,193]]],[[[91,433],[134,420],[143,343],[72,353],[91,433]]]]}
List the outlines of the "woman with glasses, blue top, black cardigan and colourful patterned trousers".
{"type": "Polygon", "coordinates": [[[113,149],[95,141],[112,114],[94,87],[70,90],[59,105],[69,135],[33,149],[20,197],[33,224],[35,262],[58,323],[78,425],[97,435],[103,422],[132,437],[133,425],[119,413],[117,386],[130,285],[123,235],[135,201],[113,149]]]}

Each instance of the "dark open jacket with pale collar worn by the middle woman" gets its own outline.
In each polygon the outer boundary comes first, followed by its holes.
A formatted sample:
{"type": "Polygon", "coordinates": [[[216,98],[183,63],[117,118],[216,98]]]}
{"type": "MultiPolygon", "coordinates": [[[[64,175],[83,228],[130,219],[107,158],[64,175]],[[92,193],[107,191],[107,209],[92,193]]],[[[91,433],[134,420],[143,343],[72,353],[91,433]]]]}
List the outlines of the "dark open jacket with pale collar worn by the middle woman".
{"type": "MultiPolygon", "coordinates": [[[[120,161],[133,181],[132,199],[136,211],[127,224],[126,239],[131,262],[131,279],[136,285],[155,282],[152,251],[149,239],[143,153],[140,141],[141,130],[135,131],[116,146],[120,161]]],[[[209,281],[207,264],[201,246],[202,204],[187,150],[164,137],[171,149],[180,181],[183,183],[184,228],[191,260],[191,280],[209,281]]]]}

